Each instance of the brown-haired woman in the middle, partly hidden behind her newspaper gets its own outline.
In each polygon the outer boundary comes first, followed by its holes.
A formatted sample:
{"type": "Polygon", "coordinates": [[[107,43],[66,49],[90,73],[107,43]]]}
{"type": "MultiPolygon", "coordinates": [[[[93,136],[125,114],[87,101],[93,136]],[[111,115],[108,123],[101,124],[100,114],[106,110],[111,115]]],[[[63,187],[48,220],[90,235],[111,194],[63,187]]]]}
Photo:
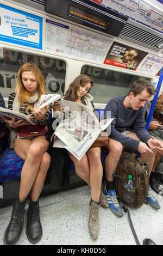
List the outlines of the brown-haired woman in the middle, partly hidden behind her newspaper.
{"type": "MultiPolygon", "coordinates": [[[[95,111],[93,106],[93,97],[88,93],[93,86],[92,79],[87,75],[79,75],[70,84],[66,95],[62,98],[74,102],[83,103],[95,111]]],[[[62,111],[58,101],[54,102],[53,110],[59,114],[62,111]]],[[[61,115],[60,115],[61,116],[61,115]]],[[[103,176],[103,167],[101,163],[101,148],[90,148],[86,154],[79,161],[71,153],[69,153],[71,160],[74,163],[76,173],[91,187],[91,200],[90,200],[90,217],[89,217],[89,230],[94,240],[97,239],[99,233],[99,208],[101,203],[104,207],[108,207],[107,202],[101,202],[101,185],[103,176]]]]}

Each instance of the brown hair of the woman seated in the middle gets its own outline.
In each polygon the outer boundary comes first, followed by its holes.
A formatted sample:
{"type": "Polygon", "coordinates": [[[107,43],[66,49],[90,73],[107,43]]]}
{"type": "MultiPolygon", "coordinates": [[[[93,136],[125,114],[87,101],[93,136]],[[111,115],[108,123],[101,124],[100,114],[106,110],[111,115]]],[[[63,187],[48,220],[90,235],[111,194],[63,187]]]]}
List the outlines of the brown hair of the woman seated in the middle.
{"type": "Polygon", "coordinates": [[[85,86],[85,84],[91,83],[93,86],[93,80],[91,77],[82,74],[77,76],[74,81],[68,87],[64,100],[76,101],[78,99],[77,90],[80,86],[85,86]]]}

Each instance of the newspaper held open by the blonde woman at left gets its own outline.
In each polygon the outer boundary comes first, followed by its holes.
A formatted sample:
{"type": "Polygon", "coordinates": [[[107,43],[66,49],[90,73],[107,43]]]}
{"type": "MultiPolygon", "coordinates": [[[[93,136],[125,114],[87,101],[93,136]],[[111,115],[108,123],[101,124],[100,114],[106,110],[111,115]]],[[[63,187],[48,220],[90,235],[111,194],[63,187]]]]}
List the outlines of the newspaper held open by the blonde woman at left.
{"type": "MultiPolygon", "coordinates": [[[[51,104],[52,102],[59,100],[60,98],[61,98],[61,95],[59,94],[42,94],[40,97],[40,100],[36,103],[35,107],[43,108],[51,104]]],[[[0,115],[3,115],[8,119],[12,119],[12,117],[16,117],[16,121],[23,120],[23,121],[27,121],[32,125],[36,124],[35,118],[29,118],[29,117],[32,117],[33,114],[26,115],[18,111],[0,107],[0,115]]]]}

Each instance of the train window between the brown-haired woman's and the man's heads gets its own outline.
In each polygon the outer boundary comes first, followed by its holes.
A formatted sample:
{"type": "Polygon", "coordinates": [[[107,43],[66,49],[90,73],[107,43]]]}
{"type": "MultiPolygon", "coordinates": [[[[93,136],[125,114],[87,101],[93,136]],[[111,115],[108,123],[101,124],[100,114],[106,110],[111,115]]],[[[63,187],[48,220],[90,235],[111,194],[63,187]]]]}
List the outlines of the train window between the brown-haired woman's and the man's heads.
{"type": "Polygon", "coordinates": [[[92,66],[83,66],[81,74],[89,75],[94,82],[91,88],[93,101],[98,103],[108,103],[114,96],[128,94],[128,90],[137,80],[149,78],[124,74],[117,71],[107,69],[94,68],[92,66]]]}

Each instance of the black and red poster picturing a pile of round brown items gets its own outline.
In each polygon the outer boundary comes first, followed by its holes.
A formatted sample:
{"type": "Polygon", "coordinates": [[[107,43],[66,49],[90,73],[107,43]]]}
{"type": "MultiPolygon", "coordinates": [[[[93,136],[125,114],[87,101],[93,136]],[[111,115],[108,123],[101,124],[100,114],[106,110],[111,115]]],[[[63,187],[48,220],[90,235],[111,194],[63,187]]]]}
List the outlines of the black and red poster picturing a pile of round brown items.
{"type": "Polygon", "coordinates": [[[104,64],[136,70],[137,66],[146,55],[147,52],[119,44],[118,42],[113,42],[105,57],[104,64]]]}

